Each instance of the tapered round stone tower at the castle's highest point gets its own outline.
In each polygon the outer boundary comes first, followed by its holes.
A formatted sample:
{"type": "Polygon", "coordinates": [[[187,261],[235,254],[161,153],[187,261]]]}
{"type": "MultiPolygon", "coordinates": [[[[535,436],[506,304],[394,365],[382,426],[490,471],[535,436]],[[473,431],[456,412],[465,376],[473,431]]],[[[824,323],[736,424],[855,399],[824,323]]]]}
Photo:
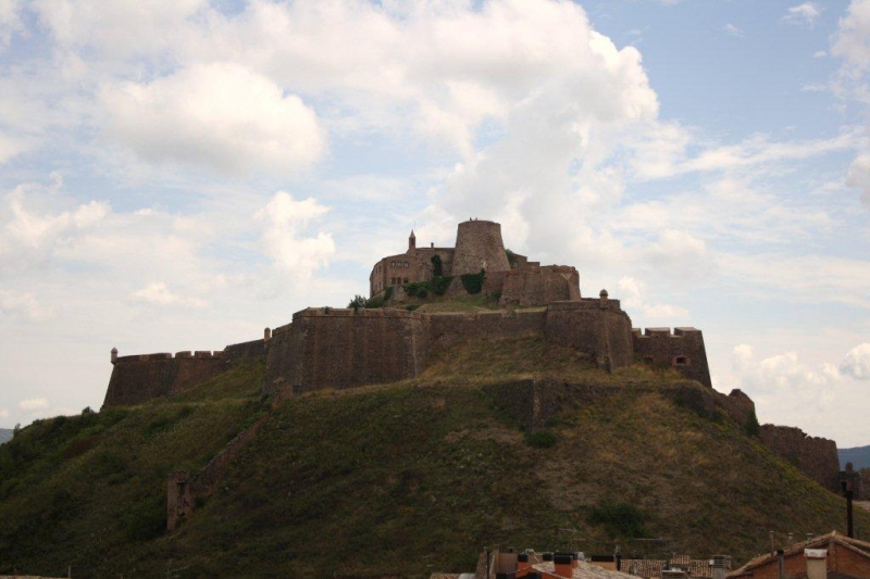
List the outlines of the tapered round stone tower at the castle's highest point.
{"type": "Polygon", "coordinates": [[[501,225],[477,219],[462,222],[456,231],[453,267],[450,273],[461,276],[478,274],[481,269],[510,269],[508,256],[505,254],[505,242],[501,241],[501,225]]]}

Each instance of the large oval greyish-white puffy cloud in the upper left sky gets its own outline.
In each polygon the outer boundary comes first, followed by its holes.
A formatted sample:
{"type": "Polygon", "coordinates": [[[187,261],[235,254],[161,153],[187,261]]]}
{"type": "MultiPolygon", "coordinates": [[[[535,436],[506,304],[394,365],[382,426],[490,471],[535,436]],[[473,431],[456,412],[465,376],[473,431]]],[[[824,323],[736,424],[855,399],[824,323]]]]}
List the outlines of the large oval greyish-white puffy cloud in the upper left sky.
{"type": "Polygon", "coordinates": [[[231,172],[293,173],[326,151],[316,113],[234,63],[197,64],[151,83],[107,86],[108,133],[144,159],[231,172]]]}

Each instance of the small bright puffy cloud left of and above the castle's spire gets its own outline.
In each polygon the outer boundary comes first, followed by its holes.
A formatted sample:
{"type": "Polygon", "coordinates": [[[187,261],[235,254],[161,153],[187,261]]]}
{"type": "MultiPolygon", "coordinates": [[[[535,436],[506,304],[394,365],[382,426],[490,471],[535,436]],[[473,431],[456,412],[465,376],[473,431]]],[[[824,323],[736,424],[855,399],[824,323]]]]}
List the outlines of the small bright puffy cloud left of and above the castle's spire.
{"type": "Polygon", "coordinates": [[[335,253],[335,242],[330,234],[319,231],[313,237],[304,237],[309,224],[323,216],[328,207],[309,197],[296,201],[285,191],[278,191],[257,217],[263,222],[263,251],[276,266],[298,279],[307,279],[311,274],[330,263],[335,253]]]}

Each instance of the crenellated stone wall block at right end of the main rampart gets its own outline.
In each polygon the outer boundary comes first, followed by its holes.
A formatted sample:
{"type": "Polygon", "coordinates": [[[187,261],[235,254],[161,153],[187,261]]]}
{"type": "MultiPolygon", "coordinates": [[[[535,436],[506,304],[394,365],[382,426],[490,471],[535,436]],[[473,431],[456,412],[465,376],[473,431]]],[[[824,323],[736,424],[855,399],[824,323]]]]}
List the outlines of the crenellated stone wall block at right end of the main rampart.
{"type": "Polygon", "coordinates": [[[632,330],[636,362],[672,367],[683,376],[712,388],[704,336],[695,328],[647,328],[632,330]]]}

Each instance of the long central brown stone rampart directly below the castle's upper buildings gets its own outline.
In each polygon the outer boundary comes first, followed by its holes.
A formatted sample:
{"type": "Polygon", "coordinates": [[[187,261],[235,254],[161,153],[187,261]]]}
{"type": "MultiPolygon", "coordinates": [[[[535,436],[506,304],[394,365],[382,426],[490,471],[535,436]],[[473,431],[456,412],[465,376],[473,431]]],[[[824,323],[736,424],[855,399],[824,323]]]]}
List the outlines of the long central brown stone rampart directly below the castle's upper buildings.
{"type": "MultiPolygon", "coordinates": [[[[625,367],[635,360],[631,319],[606,294],[532,310],[474,313],[318,307],[297,312],[289,325],[273,331],[264,391],[290,395],[414,378],[435,350],[463,340],[523,336],[585,352],[602,368],[625,367]]],[[[696,350],[703,344],[676,340],[673,351],[706,363],[706,353],[696,350]]],[[[710,386],[709,374],[701,383],[710,386]]]]}

